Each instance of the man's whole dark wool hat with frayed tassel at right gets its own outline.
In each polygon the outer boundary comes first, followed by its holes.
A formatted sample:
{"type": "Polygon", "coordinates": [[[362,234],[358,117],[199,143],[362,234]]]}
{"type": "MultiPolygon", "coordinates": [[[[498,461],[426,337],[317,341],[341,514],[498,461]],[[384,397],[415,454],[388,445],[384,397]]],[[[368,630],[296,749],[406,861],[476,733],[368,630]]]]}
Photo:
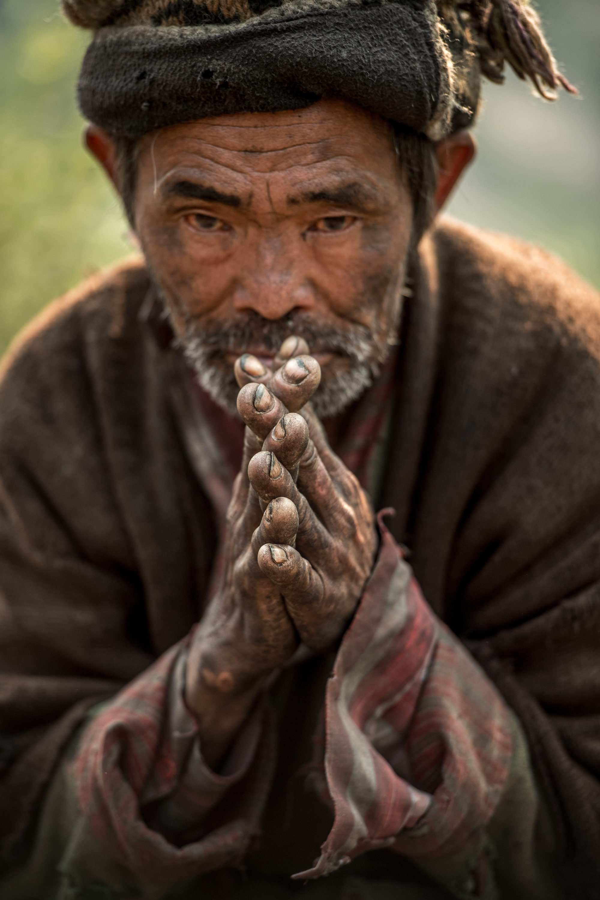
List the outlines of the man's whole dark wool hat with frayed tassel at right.
{"type": "Polygon", "coordinates": [[[227,112],[357,103],[432,140],[469,127],[505,63],[546,99],[575,88],[528,0],[63,0],[94,30],[78,99],[115,134],[227,112]]]}

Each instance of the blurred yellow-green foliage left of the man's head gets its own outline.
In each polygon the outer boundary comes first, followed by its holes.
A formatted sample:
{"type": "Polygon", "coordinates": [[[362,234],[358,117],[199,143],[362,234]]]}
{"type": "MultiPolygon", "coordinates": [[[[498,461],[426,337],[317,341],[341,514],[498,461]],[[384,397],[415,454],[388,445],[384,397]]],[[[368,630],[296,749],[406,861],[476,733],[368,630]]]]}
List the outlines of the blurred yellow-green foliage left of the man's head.
{"type": "Polygon", "coordinates": [[[57,10],[0,3],[0,352],[45,303],[130,252],[81,144],[74,85],[88,38],[57,10]]]}

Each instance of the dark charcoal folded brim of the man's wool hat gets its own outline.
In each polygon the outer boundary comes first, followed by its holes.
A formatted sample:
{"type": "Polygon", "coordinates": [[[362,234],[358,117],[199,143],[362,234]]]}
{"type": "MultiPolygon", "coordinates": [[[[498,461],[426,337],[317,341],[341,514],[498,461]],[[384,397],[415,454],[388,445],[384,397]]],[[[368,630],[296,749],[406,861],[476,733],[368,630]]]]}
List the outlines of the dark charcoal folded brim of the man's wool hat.
{"type": "Polygon", "coordinates": [[[475,112],[479,69],[467,110],[450,99],[449,51],[434,4],[295,0],[242,22],[217,21],[101,28],[79,77],[84,115],[139,137],[177,122],[298,109],[334,96],[441,136],[454,106],[464,121],[475,112]]]}

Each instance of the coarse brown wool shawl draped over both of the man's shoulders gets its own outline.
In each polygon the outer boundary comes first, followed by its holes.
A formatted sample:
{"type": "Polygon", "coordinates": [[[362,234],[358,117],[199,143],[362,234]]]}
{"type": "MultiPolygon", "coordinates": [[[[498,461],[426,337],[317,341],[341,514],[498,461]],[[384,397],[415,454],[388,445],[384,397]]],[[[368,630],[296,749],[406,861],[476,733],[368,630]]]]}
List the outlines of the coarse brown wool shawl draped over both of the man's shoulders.
{"type": "MultiPolygon", "coordinates": [[[[567,896],[598,896],[600,304],[536,247],[443,220],[402,328],[377,506],[520,717],[567,896]]],[[[36,320],[0,382],[4,860],[82,711],[187,634],[215,552],[143,261],[36,320]],[[82,707],[83,705],[83,707],[82,707]]],[[[293,715],[293,713],[291,713],[293,715]]]]}

